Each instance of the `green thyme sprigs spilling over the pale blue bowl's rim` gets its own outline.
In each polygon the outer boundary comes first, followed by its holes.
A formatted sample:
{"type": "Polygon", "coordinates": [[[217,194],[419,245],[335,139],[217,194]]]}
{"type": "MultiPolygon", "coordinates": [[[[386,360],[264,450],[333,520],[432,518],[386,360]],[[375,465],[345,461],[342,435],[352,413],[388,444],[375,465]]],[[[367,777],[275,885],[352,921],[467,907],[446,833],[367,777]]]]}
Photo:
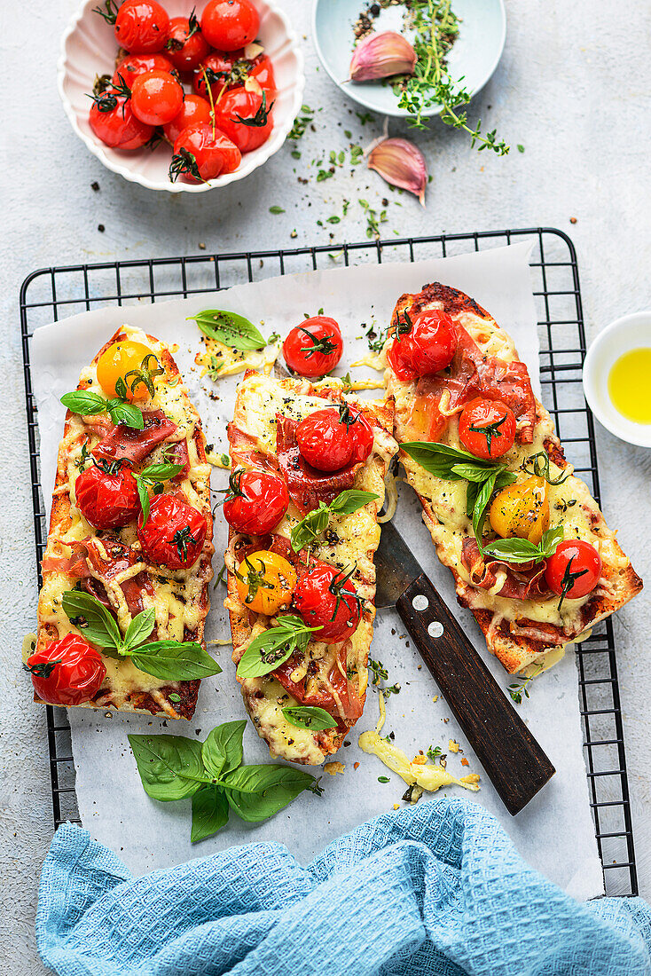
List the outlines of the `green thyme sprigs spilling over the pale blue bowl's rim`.
{"type": "Polygon", "coordinates": [[[497,138],[495,129],[483,133],[480,119],[474,127],[468,125],[468,112],[463,106],[472,93],[464,86],[463,78],[455,82],[450,75],[446,58],[459,34],[452,0],[411,0],[410,11],[416,66],[413,76],[394,88],[399,96],[398,106],[408,112],[410,125],[427,129],[427,111],[441,106],[441,121],[467,132],[471,146],[506,155],[509,145],[497,138]]]}

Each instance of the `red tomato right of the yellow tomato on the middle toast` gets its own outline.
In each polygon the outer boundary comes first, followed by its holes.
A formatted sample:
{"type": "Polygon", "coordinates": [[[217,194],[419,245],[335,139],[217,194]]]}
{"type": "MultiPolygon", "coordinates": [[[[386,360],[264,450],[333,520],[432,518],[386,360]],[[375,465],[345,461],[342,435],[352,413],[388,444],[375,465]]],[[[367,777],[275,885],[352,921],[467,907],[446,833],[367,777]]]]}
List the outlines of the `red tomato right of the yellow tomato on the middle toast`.
{"type": "Polygon", "coordinates": [[[308,627],[319,627],[314,640],[338,644],[352,636],[359,624],[359,597],[349,574],[320,562],[301,576],[294,590],[294,606],[308,627]]]}

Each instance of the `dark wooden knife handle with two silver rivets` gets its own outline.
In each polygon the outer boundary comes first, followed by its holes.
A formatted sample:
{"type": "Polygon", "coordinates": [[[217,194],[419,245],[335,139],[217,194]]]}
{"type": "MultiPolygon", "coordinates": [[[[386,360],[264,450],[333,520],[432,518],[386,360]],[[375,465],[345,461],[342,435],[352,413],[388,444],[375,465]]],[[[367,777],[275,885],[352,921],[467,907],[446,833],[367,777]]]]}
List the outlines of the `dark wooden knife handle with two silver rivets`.
{"type": "Polygon", "coordinates": [[[519,813],[553,776],[548,756],[425,573],[396,608],[509,813],[519,813]]]}

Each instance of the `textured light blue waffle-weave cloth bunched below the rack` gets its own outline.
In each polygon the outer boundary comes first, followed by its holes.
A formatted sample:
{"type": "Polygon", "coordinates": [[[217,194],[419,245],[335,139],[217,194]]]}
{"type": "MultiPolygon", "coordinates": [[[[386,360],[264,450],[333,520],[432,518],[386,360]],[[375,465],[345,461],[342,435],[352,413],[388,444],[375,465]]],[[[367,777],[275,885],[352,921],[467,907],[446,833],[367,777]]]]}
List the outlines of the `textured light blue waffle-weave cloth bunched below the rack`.
{"type": "Polygon", "coordinates": [[[60,976],[651,974],[644,902],[575,902],[461,799],[378,817],[307,868],[260,843],[136,879],[68,824],[36,935],[60,976]]]}

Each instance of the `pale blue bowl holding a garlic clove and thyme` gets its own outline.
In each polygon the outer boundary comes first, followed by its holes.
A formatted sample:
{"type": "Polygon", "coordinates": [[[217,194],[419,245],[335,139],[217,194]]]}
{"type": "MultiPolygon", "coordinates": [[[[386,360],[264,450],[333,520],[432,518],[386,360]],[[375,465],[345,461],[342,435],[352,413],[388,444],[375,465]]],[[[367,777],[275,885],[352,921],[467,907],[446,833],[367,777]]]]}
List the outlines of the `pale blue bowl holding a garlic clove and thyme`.
{"type": "MultiPolygon", "coordinates": [[[[312,32],[316,53],[324,68],[351,99],[382,115],[404,117],[390,84],[382,81],[346,82],[354,48],[352,25],[365,8],[364,0],[314,0],[312,32]]],[[[504,0],[454,0],[454,12],[462,20],[459,37],[448,56],[453,81],[475,95],[484,87],[498,65],[507,35],[504,0]]],[[[387,7],[375,21],[376,30],[403,31],[403,8],[387,7]]],[[[411,40],[410,35],[406,34],[411,40]]],[[[440,105],[432,105],[427,116],[438,115],[440,105]]]]}

